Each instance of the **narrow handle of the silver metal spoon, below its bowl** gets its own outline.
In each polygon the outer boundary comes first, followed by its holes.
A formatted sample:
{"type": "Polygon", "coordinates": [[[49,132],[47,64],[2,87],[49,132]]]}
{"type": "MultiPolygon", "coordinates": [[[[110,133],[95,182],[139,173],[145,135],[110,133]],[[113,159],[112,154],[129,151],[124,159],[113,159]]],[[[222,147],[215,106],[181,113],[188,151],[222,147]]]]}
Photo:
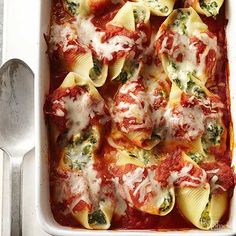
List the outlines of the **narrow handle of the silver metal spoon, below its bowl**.
{"type": "Polygon", "coordinates": [[[21,166],[23,157],[10,158],[11,176],[11,236],[22,235],[21,216],[21,166]]]}

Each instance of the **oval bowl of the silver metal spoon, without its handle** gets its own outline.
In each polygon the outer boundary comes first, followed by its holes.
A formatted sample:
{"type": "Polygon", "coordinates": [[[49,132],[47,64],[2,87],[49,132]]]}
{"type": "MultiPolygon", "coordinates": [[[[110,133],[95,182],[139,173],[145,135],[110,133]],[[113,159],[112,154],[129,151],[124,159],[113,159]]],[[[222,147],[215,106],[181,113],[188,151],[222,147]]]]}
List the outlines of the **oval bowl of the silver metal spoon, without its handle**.
{"type": "Polygon", "coordinates": [[[9,155],[24,155],[34,147],[33,72],[12,59],[0,70],[0,147],[9,155]]]}

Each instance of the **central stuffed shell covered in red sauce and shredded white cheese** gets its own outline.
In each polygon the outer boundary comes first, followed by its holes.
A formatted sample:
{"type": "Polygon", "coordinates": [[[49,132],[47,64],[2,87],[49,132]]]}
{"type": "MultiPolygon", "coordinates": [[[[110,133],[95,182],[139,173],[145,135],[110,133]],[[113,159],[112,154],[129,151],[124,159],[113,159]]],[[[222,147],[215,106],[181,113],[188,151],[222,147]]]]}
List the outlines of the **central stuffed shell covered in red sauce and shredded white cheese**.
{"type": "Polygon", "coordinates": [[[152,137],[151,110],[141,77],[129,79],[120,87],[111,114],[118,129],[135,145],[151,149],[158,143],[152,137]]]}

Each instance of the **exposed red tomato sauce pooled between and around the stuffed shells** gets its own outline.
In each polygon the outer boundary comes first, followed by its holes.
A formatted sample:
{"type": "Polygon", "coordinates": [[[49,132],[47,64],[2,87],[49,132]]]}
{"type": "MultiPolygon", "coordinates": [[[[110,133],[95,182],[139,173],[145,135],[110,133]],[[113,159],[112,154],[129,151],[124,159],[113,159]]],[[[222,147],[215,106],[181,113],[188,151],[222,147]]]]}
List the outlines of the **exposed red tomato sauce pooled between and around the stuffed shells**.
{"type": "MultiPolygon", "coordinates": [[[[110,1],[109,1],[110,2],[110,1]]],[[[176,1],[175,7],[180,7],[181,1],[176,1]]],[[[113,4],[107,4],[107,1],[104,0],[102,5],[93,5],[92,11],[96,12],[96,17],[92,20],[93,24],[104,30],[107,26],[107,22],[109,22],[114,15],[117,13],[121,5],[113,5],[113,4]],[[107,14],[107,12],[109,12],[107,14]]],[[[55,20],[57,23],[62,24],[64,21],[70,21],[73,19],[73,17],[65,11],[62,1],[61,0],[54,0],[52,3],[52,13],[51,13],[51,20],[55,20]]],[[[157,17],[157,16],[151,16],[150,19],[150,27],[153,32],[157,32],[160,25],[164,22],[166,18],[165,17],[157,17]]],[[[227,19],[225,16],[225,6],[221,8],[220,14],[216,17],[216,19],[212,17],[204,17],[201,16],[201,19],[208,25],[209,30],[217,36],[218,39],[218,45],[220,47],[220,59],[218,60],[218,64],[216,66],[216,73],[215,78],[210,79],[207,83],[207,87],[210,91],[214,92],[215,94],[218,94],[221,98],[221,101],[225,104],[224,109],[224,125],[226,129],[229,131],[231,123],[231,116],[230,116],[230,94],[229,94],[229,67],[228,67],[228,59],[227,59],[227,41],[225,37],[225,29],[227,26],[227,19]]],[[[111,30],[111,33],[113,31],[111,30]]],[[[126,32],[122,32],[122,34],[126,34],[126,32]]],[[[110,35],[107,35],[109,38],[110,35]]],[[[135,37],[135,36],[134,36],[135,37]]],[[[46,37],[46,41],[48,41],[46,37]]],[[[60,84],[63,82],[65,76],[69,72],[66,69],[66,65],[62,63],[62,60],[60,58],[60,55],[58,53],[49,53],[49,59],[50,59],[50,93],[54,91],[56,88],[60,86],[60,84]]],[[[116,81],[111,81],[110,78],[106,80],[106,83],[104,86],[98,88],[99,93],[101,96],[105,99],[105,101],[108,101],[109,98],[114,98],[118,89],[120,87],[120,84],[116,81]]],[[[50,123],[49,120],[46,120],[48,123],[50,123]]],[[[50,129],[50,128],[49,128],[50,129]]],[[[106,136],[109,135],[111,130],[110,124],[107,125],[106,130],[104,131],[103,137],[102,137],[102,145],[101,149],[97,151],[98,161],[96,164],[96,169],[99,170],[101,175],[106,176],[107,178],[110,177],[110,174],[104,170],[104,167],[106,165],[109,165],[108,160],[104,164],[104,150],[110,149],[112,150],[109,145],[107,145],[107,141],[105,139],[106,136]]],[[[49,163],[50,163],[50,182],[52,184],[54,180],[55,170],[58,165],[58,156],[60,149],[58,147],[55,147],[53,137],[50,135],[51,132],[49,132],[49,163]]],[[[226,146],[227,149],[224,152],[223,156],[220,156],[219,159],[221,162],[226,163],[229,165],[231,161],[231,151],[230,151],[230,134],[227,132],[227,141],[226,146]]],[[[128,143],[128,141],[127,141],[128,143]]],[[[170,145],[171,147],[168,149],[169,151],[172,151],[178,147],[181,147],[183,150],[188,146],[188,143],[186,145],[178,144],[176,145],[170,145]],[[182,145],[182,147],[181,147],[182,145]]],[[[166,147],[162,147],[162,144],[159,146],[160,152],[166,151],[166,147]]],[[[175,160],[172,160],[175,162],[175,160]]],[[[160,171],[163,171],[163,176],[165,175],[165,171],[168,172],[169,165],[176,165],[176,163],[167,163],[168,165],[165,166],[163,164],[163,168],[160,171]]],[[[178,169],[178,165],[176,165],[176,168],[178,169]]],[[[179,167],[180,168],[180,167],[179,167]]],[[[206,169],[210,167],[205,167],[206,169]]],[[[221,173],[223,176],[223,173],[221,173]]],[[[227,181],[225,185],[231,184],[231,177],[227,177],[227,181]]],[[[63,214],[62,212],[65,210],[65,206],[63,204],[56,204],[53,201],[53,194],[52,194],[52,188],[50,189],[51,192],[51,209],[54,215],[55,220],[63,225],[63,226],[69,226],[69,227],[78,227],[82,228],[82,226],[76,221],[70,214],[63,214]]],[[[230,202],[230,196],[229,196],[229,202],[230,202]]],[[[224,224],[227,222],[229,217],[229,208],[228,211],[225,213],[224,217],[222,218],[220,224],[224,224]]],[[[141,211],[138,211],[134,208],[128,207],[126,214],[121,217],[117,218],[117,216],[114,216],[112,219],[112,230],[117,229],[151,229],[151,230],[188,230],[192,229],[194,226],[189,223],[178,211],[178,207],[175,205],[174,209],[166,216],[155,216],[150,215],[147,213],[143,213],[141,211]]]]}

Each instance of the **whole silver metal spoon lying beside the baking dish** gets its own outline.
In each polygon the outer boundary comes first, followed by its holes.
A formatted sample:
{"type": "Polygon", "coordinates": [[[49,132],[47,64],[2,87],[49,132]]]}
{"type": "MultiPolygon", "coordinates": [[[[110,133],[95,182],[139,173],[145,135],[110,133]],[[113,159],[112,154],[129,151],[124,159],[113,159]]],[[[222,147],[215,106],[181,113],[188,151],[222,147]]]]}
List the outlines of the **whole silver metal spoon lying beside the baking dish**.
{"type": "Polygon", "coordinates": [[[21,60],[0,69],[0,148],[10,157],[11,236],[22,235],[21,165],[34,147],[34,74],[21,60]]]}

